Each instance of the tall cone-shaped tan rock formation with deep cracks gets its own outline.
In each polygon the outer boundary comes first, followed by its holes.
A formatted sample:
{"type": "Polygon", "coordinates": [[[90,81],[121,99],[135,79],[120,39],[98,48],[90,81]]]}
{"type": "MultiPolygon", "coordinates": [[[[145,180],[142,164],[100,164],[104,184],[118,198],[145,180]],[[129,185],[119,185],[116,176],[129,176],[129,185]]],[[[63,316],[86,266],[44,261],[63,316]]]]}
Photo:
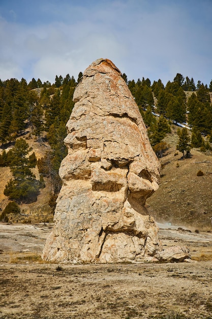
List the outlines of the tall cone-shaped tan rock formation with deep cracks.
{"type": "Polygon", "coordinates": [[[46,260],[139,262],[161,251],[145,208],[158,189],[159,162],[121,75],[110,60],[99,59],[76,87],[46,260]]]}

